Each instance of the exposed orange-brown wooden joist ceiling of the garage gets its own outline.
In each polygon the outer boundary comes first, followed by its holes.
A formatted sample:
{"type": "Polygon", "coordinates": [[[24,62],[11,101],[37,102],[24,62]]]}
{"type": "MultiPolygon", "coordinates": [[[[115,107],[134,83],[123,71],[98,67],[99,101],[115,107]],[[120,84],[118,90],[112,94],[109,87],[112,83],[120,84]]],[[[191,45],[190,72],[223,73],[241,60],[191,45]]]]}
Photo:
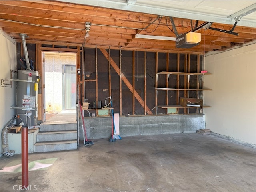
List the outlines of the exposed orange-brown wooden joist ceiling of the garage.
{"type": "MultiPolygon", "coordinates": [[[[4,0],[0,1],[0,28],[18,42],[20,42],[19,34],[24,33],[28,35],[28,38],[26,38],[27,43],[38,42],[42,44],[82,46],[85,40],[85,46],[87,47],[95,47],[97,45],[102,47],[111,46],[114,49],[122,47],[122,49],[131,50],[147,49],[176,51],[179,53],[182,51],[186,53],[203,53],[204,51],[221,50],[256,40],[256,27],[241,26],[240,22],[242,20],[238,22],[234,29],[234,32],[239,34],[238,36],[210,29],[201,29],[198,31],[201,33],[200,44],[189,49],[176,48],[174,41],[134,38],[137,33],[169,37],[176,37],[176,34],[168,14],[164,16],[162,12],[161,17],[159,14],[103,8],[107,2],[110,4],[119,2],[123,7],[126,7],[127,5],[136,6],[144,2],[152,3],[156,1],[79,1],[79,4],[73,4],[69,0],[65,2],[4,0]],[[87,3],[98,3],[100,5],[96,7],[87,5],[87,3]],[[85,22],[91,23],[90,37],[86,39],[85,22]]],[[[157,2],[160,2],[160,4],[168,2],[170,4],[176,1],[157,2]]],[[[247,2],[247,6],[248,3],[252,4],[252,2],[256,1],[244,2],[247,2]]],[[[237,12],[237,9],[234,8],[233,12],[237,12]]],[[[170,13],[172,13],[171,10],[169,10],[170,13]]],[[[196,25],[196,20],[187,19],[186,17],[186,14],[183,17],[173,17],[178,34],[184,34],[191,30],[191,26],[196,25]]],[[[248,16],[248,18],[250,17],[248,16]]],[[[198,26],[204,23],[205,18],[201,19],[198,20],[198,26]]],[[[228,18],[228,20],[233,20],[232,24],[221,23],[221,20],[219,20],[219,22],[214,22],[211,27],[231,30],[234,19],[228,18]]],[[[250,20],[250,22],[252,21],[250,20]]],[[[255,24],[256,21],[252,23],[255,24]]]]}

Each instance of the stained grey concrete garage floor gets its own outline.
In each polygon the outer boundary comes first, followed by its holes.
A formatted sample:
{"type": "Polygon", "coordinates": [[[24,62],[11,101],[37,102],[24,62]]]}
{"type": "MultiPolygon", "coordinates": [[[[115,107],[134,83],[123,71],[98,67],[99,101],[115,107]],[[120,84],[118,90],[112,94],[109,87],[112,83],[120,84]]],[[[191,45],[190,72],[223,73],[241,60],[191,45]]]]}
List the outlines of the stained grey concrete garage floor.
{"type": "MultiPolygon", "coordinates": [[[[214,135],[181,133],[95,139],[78,150],[29,154],[40,192],[255,192],[256,148],[214,135]],[[53,159],[54,158],[54,159],[53,159]],[[49,160],[50,159],[50,160],[49,160]],[[55,160],[55,161],[54,161],[55,160]],[[47,163],[48,162],[48,165],[47,163]],[[50,163],[49,163],[50,162],[50,163]],[[33,162],[35,166],[35,162],[33,162]]],[[[18,191],[20,155],[0,158],[0,191],[18,191]]],[[[32,166],[29,166],[30,168],[32,166]]],[[[36,190],[35,190],[36,189],[36,190]]]]}

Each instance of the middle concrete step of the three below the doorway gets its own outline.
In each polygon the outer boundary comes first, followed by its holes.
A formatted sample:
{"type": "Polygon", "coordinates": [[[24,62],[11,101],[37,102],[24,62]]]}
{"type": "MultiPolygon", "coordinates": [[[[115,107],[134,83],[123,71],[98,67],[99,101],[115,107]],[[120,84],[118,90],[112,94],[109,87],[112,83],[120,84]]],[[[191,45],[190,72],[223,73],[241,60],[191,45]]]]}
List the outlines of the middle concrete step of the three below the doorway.
{"type": "Polygon", "coordinates": [[[64,141],[64,140],[72,140],[77,139],[77,131],[47,131],[47,132],[39,132],[37,134],[37,142],[44,141],[64,141]]]}

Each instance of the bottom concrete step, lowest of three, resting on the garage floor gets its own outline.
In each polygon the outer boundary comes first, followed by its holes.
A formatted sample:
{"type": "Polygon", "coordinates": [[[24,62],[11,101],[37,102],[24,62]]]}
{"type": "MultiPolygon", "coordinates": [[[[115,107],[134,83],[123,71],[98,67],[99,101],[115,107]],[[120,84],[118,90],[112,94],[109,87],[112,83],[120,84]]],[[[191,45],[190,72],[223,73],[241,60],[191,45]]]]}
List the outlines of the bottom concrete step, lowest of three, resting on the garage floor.
{"type": "Polygon", "coordinates": [[[34,152],[52,152],[77,149],[77,140],[38,142],[34,145],[34,152]]]}

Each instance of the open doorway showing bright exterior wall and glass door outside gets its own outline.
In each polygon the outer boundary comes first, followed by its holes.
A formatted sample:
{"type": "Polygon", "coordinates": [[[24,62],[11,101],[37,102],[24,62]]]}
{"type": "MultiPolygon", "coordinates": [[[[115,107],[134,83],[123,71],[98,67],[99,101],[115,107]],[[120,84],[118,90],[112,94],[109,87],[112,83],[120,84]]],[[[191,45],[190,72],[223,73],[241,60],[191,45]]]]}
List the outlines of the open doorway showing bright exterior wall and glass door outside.
{"type": "Polygon", "coordinates": [[[76,53],[42,53],[46,121],[57,114],[76,114],[76,53]]]}

